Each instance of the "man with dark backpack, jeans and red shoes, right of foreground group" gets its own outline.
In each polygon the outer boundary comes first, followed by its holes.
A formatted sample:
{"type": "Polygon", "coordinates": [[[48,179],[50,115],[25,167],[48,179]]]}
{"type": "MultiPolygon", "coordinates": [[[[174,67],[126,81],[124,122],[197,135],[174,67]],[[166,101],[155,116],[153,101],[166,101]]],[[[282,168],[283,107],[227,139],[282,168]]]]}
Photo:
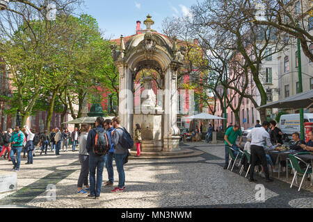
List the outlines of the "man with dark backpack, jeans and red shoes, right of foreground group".
{"type": "Polygon", "coordinates": [[[115,128],[115,131],[112,132],[112,142],[114,144],[115,164],[118,169],[118,187],[115,187],[111,192],[116,193],[126,189],[124,164],[127,163],[128,149],[134,146],[134,141],[131,139],[127,130],[120,126],[119,117],[114,117],[112,122],[115,128]]]}

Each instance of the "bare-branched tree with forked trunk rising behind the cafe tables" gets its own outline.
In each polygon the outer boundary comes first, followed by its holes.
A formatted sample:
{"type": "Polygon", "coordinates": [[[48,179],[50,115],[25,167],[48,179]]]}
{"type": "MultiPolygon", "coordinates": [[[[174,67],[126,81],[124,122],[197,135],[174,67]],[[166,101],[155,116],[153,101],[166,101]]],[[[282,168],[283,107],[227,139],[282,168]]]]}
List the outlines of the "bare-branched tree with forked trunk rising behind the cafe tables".
{"type": "MultiPolygon", "coordinates": [[[[195,4],[191,8],[193,21],[189,24],[194,29],[203,42],[209,40],[207,35],[212,33],[218,38],[225,40],[220,42],[224,49],[230,49],[234,52],[233,56],[241,55],[243,60],[238,62],[243,67],[242,75],[247,73],[252,76],[259,95],[261,103],[258,104],[252,94],[247,94],[245,90],[229,86],[240,96],[248,98],[255,107],[265,105],[267,94],[262,84],[262,74],[260,68],[262,60],[272,56],[278,51],[282,51],[287,42],[282,41],[282,36],[278,35],[275,28],[264,26],[251,22],[243,12],[250,10],[247,1],[205,1],[195,4]],[[271,52],[268,51],[271,49],[271,52]]],[[[262,121],[266,120],[265,109],[259,110],[262,121]]]]}

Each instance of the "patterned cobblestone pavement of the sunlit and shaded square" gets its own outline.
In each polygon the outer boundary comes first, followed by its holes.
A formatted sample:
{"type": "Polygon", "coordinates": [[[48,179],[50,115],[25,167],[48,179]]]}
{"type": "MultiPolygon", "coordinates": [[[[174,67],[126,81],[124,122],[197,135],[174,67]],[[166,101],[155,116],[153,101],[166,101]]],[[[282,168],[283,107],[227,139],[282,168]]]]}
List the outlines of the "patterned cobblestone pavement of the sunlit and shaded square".
{"type": "MultiPolygon", "coordinates": [[[[129,160],[125,165],[126,191],[112,194],[102,187],[99,199],[76,194],[79,177],[78,153],[62,152],[56,157],[36,155],[33,165],[25,165],[17,173],[17,191],[0,194],[0,205],[28,207],[313,207],[313,189],[292,189],[290,183],[275,179],[272,183],[256,179],[265,187],[265,200],[256,200],[255,182],[248,182],[234,172],[224,170],[224,146],[186,143],[203,151],[197,157],[129,160]],[[51,200],[48,185],[56,185],[56,200],[51,200]]],[[[0,160],[0,169],[10,171],[12,164],[0,160]]],[[[118,173],[114,165],[115,185],[118,173]]],[[[107,173],[104,171],[104,181],[107,173]]]]}

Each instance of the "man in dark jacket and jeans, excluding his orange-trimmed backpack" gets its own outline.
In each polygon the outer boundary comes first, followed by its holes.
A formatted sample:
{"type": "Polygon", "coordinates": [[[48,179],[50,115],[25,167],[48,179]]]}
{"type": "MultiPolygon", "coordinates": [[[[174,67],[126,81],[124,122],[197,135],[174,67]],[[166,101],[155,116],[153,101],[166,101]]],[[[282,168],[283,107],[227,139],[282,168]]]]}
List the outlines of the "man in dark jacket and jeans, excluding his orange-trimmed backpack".
{"type": "MultiPolygon", "coordinates": [[[[97,155],[95,153],[95,137],[97,135],[96,131],[99,133],[104,132],[104,119],[102,117],[97,117],[95,128],[89,131],[87,137],[86,149],[89,153],[89,181],[90,181],[90,194],[88,198],[99,198],[102,186],[102,173],[105,163],[105,155],[97,155]],[[95,171],[97,169],[97,182],[95,178],[95,171]]],[[[111,137],[106,133],[108,137],[108,143],[111,147],[111,137]]]]}

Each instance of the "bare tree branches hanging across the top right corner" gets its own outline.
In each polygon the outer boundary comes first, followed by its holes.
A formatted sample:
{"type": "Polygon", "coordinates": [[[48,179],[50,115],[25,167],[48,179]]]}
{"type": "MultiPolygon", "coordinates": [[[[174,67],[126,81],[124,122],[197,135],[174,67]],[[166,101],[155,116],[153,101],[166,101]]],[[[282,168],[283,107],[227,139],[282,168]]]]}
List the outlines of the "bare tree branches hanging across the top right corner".
{"type": "Polygon", "coordinates": [[[313,8],[310,0],[265,0],[258,3],[247,2],[247,9],[243,13],[254,24],[276,28],[282,35],[290,35],[300,40],[303,53],[313,62],[313,53],[310,44],[313,43],[312,30],[313,8]],[[258,12],[264,16],[259,18],[258,12]],[[311,24],[311,25],[310,25],[311,24]]]}

